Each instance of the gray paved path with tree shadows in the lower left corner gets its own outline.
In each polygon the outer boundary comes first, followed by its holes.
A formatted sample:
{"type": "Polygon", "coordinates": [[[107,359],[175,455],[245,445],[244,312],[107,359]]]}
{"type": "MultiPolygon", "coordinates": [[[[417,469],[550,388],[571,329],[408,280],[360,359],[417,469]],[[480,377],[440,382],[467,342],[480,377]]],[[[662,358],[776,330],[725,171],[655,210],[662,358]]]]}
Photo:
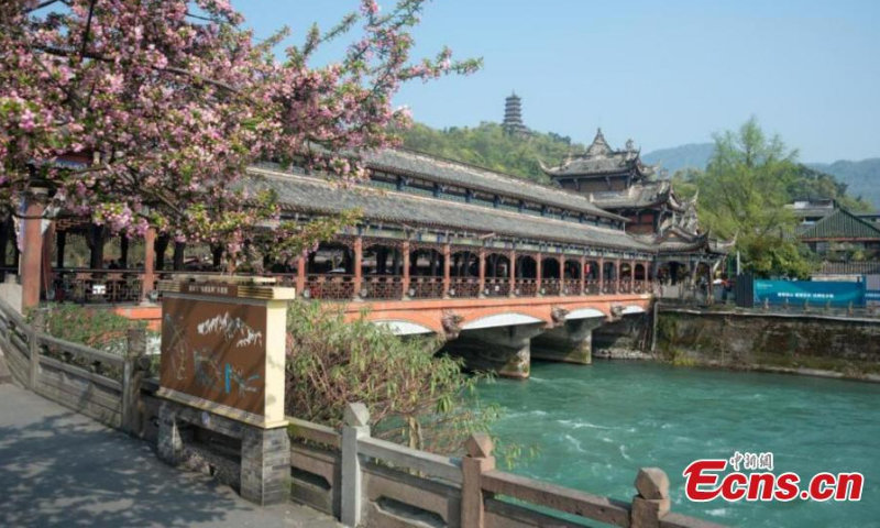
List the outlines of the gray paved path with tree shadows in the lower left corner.
{"type": "Polygon", "coordinates": [[[145,442],[0,384],[0,526],[340,525],[305,506],[260,508],[165,465],[145,442]]]}

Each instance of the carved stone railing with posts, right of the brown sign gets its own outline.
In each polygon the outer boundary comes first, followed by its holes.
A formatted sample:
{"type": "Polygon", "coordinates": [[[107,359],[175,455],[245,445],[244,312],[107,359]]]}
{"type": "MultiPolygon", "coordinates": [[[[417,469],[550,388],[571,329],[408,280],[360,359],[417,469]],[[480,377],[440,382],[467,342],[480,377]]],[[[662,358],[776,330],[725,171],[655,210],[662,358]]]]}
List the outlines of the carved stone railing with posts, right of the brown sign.
{"type": "Polygon", "coordinates": [[[373,438],[363,404],[349,405],[341,430],[288,420],[292,498],[348,526],[719,526],[670,513],[669,480],[657,468],[638,472],[631,501],[617,501],[496,470],[486,435],[471,436],[463,458],[373,438]]]}

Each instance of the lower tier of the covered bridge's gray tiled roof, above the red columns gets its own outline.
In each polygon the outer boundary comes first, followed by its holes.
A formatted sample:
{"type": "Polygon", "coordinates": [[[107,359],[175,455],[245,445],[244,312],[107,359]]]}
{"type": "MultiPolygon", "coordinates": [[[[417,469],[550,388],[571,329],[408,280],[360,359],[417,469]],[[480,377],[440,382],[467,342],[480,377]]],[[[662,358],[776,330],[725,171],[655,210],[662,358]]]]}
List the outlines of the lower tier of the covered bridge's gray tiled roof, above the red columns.
{"type": "Polygon", "coordinates": [[[288,211],[337,213],[361,209],[366,219],[389,223],[497,233],[597,248],[652,252],[650,244],[623,231],[563,220],[534,217],[471,204],[461,204],[365,187],[343,188],[323,178],[252,167],[245,185],[274,189],[288,211]]]}

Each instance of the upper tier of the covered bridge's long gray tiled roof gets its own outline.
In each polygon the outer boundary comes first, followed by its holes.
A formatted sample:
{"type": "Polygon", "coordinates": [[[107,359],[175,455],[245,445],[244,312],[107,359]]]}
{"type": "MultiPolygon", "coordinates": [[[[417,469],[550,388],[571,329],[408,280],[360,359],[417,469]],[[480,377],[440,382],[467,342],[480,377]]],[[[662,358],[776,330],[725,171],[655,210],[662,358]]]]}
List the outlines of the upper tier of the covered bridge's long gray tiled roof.
{"type": "Polygon", "coordinates": [[[440,184],[458,185],[485,193],[532,200],[571,211],[619,219],[616,215],[591,204],[584,196],[420,152],[386,148],[365,153],[362,158],[367,167],[377,170],[405,174],[440,184]]]}

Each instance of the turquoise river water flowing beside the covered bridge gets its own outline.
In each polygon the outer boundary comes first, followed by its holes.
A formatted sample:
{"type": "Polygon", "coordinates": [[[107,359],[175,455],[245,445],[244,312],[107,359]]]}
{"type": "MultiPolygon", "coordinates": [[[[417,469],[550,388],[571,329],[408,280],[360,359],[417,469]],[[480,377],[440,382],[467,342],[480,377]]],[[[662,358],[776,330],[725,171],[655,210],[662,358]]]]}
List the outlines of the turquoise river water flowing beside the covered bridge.
{"type": "Polygon", "coordinates": [[[534,363],[531,380],[484,383],[506,409],[494,432],[536,446],[513,471],[628,501],[641,466],[662,468],[672,509],[743,527],[880,527],[880,385],[641,362],[534,363]],[[774,473],[860,472],[858,503],[691,503],[695,459],[772,452],[774,473]]]}

